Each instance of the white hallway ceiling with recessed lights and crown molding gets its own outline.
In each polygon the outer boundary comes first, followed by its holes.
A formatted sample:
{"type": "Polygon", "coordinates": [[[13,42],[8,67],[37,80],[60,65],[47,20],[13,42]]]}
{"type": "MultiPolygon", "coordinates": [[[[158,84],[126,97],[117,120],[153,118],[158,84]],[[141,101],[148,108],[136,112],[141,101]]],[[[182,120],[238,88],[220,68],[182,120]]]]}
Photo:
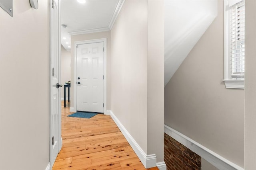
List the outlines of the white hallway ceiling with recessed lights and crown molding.
{"type": "Polygon", "coordinates": [[[122,0],[62,0],[61,4],[61,43],[70,51],[70,35],[108,31],[120,10],[122,0]]]}

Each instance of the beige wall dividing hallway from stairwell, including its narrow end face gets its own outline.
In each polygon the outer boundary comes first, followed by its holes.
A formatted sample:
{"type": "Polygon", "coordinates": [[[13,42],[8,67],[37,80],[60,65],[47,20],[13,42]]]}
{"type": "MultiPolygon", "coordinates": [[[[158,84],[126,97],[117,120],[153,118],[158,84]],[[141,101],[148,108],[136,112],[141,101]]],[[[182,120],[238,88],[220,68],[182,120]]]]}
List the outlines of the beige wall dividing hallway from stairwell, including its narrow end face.
{"type": "Polygon", "coordinates": [[[126,0],[111,30],[111,110],[146,154],[164,149],[164,3],[126,0]]]}

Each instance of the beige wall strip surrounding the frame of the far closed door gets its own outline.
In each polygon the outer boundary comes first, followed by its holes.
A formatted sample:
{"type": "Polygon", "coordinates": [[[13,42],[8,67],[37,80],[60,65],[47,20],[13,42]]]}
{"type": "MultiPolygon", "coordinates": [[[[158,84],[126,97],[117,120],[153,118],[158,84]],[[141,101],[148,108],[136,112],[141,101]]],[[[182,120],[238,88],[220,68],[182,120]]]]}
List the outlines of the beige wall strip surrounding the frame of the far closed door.
{"type": "MultiPolygon", "coordinates": [[[[111,38],[110,31],[97,32],[97,33],[88,33],[88,34],[80,34],[80,35],[72,35],[71,36],[71,84],[76,81],[74,78],[74,42],[76,41],[85,41],[92,39],[107,39],[107,109],[110,109],[110,80],[111,80],[111,38]]],[[[71,85],[70,87],[70,98],[71,98],[71,107],[74,107],[74,89],[71,85]]]]}

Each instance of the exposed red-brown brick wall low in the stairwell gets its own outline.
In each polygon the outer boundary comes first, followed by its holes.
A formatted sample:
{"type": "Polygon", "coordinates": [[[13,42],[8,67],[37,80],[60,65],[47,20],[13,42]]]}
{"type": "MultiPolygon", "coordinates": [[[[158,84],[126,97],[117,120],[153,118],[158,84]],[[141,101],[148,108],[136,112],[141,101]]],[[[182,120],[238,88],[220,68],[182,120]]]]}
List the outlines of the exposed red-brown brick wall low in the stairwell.
{"type": "Polygon", "coordinates": [[[167,170],[201,170],[201,157],[164,133],[164,162],[167,170]]]}

